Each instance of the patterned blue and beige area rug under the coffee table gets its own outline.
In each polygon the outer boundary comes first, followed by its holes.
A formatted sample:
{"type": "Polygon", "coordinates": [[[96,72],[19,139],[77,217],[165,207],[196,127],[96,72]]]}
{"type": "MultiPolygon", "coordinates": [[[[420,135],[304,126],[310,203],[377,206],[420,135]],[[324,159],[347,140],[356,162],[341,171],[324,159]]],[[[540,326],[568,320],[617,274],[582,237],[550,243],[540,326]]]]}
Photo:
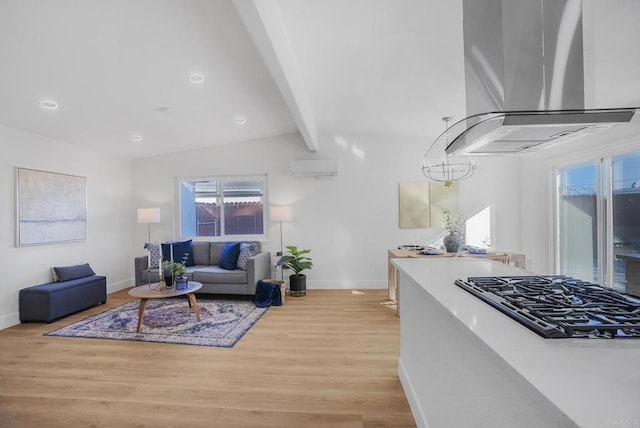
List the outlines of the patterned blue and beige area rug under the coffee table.
{"type": "Polygon", "coordinates": [[[150,299],[142,331],[138,327],[139,300],[90,316],[45,336],[91,337],[142,342],[231,348],[268,308],[247,300],[198,297],[200,322],[186,297],[150,299]]]}

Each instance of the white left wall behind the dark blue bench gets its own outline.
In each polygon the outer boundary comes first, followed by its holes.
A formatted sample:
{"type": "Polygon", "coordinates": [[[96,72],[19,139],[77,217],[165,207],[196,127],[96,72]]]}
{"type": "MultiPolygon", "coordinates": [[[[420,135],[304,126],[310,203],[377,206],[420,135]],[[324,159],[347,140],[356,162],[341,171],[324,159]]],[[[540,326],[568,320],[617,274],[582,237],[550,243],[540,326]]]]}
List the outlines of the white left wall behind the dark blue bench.
{"type": "Polygon", "coordinates": [[[129,286],[131,162],[4,126],[0,126],[0,152],[0,328],[19,323],[19,290],[51,281],[52,266],[89,263],[107,277],[108,292],[129,286]],[[15,246],[15,166],[87,178],[86,241],[15,246]]]}

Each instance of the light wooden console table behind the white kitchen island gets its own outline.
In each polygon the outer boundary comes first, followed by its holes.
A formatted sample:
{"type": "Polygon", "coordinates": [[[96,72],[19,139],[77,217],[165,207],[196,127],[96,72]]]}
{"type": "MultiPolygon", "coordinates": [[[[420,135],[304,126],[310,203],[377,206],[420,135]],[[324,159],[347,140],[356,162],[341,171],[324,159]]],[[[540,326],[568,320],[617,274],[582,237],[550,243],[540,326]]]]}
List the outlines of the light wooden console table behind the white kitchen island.
{"type": "Polygon", "coordinates": [[[520,269],[526,269],[526,257],[521,253],[514,253],[508,251],[496,251],[487,254],[471,254],[471,253],[444,253],[433,256],[423,256],[418,254],[415,250],[409,250],[406,248],[391,248],[387,251],[387,287],[388,299],[396,302],[397,313],[400,314],[400,288],[399,284],[399,272],[396,267],[391,263],[391,259],[403,259],[403,258],[442,258],[442,257],[476,257],[482,259],[488,259],[497,261],[500,263],[510,264],[520,269]]]}

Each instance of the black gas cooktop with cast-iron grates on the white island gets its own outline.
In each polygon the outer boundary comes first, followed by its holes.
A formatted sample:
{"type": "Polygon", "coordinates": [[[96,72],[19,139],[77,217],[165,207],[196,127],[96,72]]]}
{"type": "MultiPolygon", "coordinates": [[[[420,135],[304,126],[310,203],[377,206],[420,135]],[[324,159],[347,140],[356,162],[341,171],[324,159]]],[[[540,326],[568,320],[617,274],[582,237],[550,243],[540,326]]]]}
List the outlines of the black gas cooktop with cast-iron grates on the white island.
{"type": "Polygon", "coordinates": [[[544,338],[640,338],[640,298],[597,284],[562,275],[455,283],[544,338]]]}

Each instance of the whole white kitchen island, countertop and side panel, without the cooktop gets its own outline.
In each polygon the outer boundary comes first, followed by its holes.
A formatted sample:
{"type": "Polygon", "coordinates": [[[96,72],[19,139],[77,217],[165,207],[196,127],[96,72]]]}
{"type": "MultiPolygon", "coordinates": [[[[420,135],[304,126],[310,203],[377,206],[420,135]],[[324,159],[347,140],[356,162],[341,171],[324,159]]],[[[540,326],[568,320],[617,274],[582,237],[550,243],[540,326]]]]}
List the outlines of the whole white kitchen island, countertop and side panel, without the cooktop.
{"type": "Polygon", "coordinates": [[[544,339],[456,286],[534,273],[467,258],[396,259],[399,376],[419,427],[638,427],[640,340],[544,339]]]}

